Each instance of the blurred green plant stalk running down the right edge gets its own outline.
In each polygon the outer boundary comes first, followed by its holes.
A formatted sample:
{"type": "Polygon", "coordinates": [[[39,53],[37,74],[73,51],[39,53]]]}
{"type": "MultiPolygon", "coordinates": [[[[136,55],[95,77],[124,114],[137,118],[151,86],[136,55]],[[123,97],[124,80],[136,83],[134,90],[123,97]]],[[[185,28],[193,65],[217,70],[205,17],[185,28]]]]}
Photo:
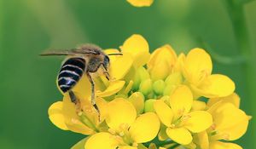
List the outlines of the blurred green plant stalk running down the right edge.
{"type": "MultiPolygon", "coordinates": [[[[253,49],[250,44],[250,37],[247,31],[247,23],[245,18],[244,4],[242,1],[223,1],[226,6],[228,13],[230,15],[230,20],[234,29],[237,47],[240,50],[242,56],[247,58],[244,66],[242,67],[243,72],[245,73],[245,81],[247,86],[247,100],[250,100],[251,103],[255,102],[256,99],[256,54],[253,52],[253,49]]],[[[254,104],[250,104],[251,112],[256,113],[254,104]]],[[[256,125],[253,121],[252,126],[256,125]]],[[[251,131],[255,132],[254,128],[251,131]]],[[[255,138],[256,134],[251,133],[251,138],[255,138]]],[[[253,143],[253,148],[255,148],[255,143],[253,143]]]]}

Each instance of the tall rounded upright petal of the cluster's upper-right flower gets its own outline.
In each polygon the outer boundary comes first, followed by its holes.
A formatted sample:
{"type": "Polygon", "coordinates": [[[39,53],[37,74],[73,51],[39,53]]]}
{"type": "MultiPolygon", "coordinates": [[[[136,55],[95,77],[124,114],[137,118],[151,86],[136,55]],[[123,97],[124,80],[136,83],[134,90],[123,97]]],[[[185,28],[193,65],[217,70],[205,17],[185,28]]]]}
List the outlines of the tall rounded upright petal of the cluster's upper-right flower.
{"type": "Polygon", "coordinates": [[[184,76],[197,84],[212,73],[212,59],[204,49],[192,49],[184,60],[184,76]]]}

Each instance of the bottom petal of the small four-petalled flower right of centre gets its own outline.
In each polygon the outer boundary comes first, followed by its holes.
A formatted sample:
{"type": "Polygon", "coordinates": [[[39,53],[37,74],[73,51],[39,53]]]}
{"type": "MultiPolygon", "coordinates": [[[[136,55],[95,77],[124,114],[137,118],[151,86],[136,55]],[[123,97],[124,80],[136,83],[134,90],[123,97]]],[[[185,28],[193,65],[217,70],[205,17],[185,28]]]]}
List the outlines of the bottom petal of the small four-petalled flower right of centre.
{"type": "Polygon", "coordinates": [[[174,141],[182,145],[188,145],[192,141],[192,135],[188,129],[179,128],[172,129],[167,128],[166,134],[174,141]]]}

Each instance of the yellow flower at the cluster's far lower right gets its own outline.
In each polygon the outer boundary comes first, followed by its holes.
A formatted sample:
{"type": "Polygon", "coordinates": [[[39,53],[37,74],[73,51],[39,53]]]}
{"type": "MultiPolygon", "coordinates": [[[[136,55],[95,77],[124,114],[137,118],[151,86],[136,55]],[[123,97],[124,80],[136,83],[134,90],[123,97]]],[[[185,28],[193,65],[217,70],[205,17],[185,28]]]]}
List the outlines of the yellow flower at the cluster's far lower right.
{"type": "Polygon", "coordinates": [[[210,99],[207,102],[212,114],[212,126],[195,136],[195,142],[201,148],[221,149],[237,148],[234,143],[221,142],[219,140],[237,140],[247,131],[248,121],[251,117],[241,111],[239,107],[240,98],[236,94],[227,97],[210,99]]]}

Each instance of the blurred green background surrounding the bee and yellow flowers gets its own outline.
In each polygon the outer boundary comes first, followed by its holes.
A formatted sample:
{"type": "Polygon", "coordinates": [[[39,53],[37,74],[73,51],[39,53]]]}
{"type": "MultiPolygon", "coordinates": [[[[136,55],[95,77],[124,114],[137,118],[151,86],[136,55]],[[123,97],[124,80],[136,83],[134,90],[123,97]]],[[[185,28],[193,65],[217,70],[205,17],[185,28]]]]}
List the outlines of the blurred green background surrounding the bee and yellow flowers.
{"type": "MultiPolygon", "coordinates": [[[[133,33],[151,51],[166,43],[178,53],[207,48],[214,72],[236,82],[241,109],[256,116],[256,2],[155,0],[139,9],[125,0],[0,0],[0,148],[69,148],[81,140],[49,122],[48,107],[61,100],[62,59],[38,54],[79,43],[118,48],[133,33]]],[[[246,149],[256,148],[255,122],[236,141],[246,149]]]]}

